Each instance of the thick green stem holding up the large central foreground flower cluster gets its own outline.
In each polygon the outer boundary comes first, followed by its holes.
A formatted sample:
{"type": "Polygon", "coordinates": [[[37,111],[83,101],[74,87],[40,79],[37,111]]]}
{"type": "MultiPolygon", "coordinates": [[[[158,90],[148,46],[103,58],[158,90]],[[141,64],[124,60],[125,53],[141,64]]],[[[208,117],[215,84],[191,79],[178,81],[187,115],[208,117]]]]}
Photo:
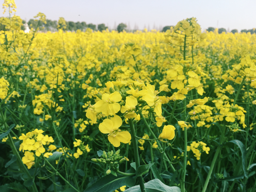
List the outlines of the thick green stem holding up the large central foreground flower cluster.
{"type": "MultiPolygon", "coordinates": [[[[130,124],[130,128],[131,128],[131,136],[132,136],[132,144],[133,144],[133,150],[134,150],[135,164],[136,164],[136,168],[138,168],[140,166],[139,151],[138,151],[137,139],[135,137],[136,136],[135,129],[134,129],[131,118],[129,119],[129,124],[130,124]]],[[[146,192],[146,188],[145,188],[142,176],[138,177],[138,181],[139,181],[139,184],[140,184],[141,192],[146,192]]]]}

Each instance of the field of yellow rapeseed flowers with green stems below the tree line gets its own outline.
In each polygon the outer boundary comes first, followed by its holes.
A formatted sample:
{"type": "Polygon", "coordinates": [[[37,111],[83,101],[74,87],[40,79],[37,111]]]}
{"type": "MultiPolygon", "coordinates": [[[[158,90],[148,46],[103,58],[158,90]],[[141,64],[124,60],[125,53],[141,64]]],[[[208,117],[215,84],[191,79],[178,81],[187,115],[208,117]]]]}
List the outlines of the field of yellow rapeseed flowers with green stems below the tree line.
{"type": "Polygon", "coordinates": [[[0,191],[256,190],[255,34],[0,22],[0,191]]]}

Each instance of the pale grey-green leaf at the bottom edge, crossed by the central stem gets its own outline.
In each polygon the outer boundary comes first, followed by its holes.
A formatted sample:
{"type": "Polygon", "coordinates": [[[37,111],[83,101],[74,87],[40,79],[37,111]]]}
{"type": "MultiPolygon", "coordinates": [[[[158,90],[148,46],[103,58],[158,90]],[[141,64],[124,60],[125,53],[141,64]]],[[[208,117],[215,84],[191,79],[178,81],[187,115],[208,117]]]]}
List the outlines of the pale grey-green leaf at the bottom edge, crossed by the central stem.
{"type": "MultiPolygon", "coordinates": [[[[180,192],[179,187],[169,187],[163,184],[159,179],[151,180],[145,183],[145,188],[147,192],[180,192]]],[[[129,189],[126,189],[125,192],[141,192],[140,185],[136,185],[129,189]]]]}

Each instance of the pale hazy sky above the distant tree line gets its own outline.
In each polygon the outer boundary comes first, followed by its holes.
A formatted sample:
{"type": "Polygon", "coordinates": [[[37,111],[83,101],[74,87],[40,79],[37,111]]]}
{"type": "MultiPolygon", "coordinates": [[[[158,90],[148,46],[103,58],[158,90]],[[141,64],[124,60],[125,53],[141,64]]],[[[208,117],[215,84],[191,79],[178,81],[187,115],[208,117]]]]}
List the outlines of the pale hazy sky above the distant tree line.
{"type": "Polygon", "coordinates": [[[190,17],[196,17],[203,30],[256,28],[256,0],[16,0],[16,5],[16,14],[26,21],[43,12],[50,20],[105,23],[110,29],[115,23],[162,29],[190,17]]]}

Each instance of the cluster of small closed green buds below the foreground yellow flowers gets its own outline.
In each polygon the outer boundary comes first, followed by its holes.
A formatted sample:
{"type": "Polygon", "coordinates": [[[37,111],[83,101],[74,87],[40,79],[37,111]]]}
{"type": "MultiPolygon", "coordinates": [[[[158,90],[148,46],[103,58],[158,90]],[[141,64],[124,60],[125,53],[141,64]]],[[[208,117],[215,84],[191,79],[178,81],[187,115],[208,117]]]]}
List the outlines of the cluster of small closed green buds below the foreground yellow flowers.
{"type": "MultiPolygon", "coordinates": [[[[121,164],[125,161],[125,158],[121,156],[120,149],[116,151],[114,154],[113,150],[106,153],[106,151],[103,151],[102,156],[100,158],[93,158],[91,159],[95,163],[102,163],[102,164],[109,164],[111,167],[116,167],[116,165],[121,164]]],[[[116,167],[117,168],[117,167],[116,167]]],[[[107,170],[106,174],[109,174],[109,171],[107,170]]]]}

